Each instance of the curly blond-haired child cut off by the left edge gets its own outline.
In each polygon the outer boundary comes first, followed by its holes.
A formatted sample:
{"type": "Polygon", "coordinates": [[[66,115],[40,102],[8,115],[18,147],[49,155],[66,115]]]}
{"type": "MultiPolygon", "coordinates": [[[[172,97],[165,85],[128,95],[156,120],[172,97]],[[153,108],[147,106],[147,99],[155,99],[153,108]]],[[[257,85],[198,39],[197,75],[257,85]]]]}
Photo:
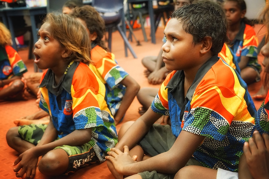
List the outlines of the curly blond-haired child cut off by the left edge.
{"type": "Polygon", "coordinates": [[[0,100],[27,100],[22,79],[27,68],[10,44],[10,31],[0,22],[0,100]]]}

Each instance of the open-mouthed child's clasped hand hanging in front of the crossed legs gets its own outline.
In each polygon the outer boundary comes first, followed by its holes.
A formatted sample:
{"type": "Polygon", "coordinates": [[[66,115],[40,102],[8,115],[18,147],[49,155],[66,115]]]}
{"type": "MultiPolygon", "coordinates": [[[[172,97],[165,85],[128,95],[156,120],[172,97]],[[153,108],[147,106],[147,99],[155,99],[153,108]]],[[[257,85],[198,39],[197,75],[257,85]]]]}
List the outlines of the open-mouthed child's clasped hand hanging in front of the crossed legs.
{"type": "Polygon", "coordinates": [[[18,178],[33,179],[35,177],[38,156],[33,155],[31,149],[32,148],[20,154],[13,163],[13,166],[17,165],[13,171],[16,172],[16,177],[18,178]]]}

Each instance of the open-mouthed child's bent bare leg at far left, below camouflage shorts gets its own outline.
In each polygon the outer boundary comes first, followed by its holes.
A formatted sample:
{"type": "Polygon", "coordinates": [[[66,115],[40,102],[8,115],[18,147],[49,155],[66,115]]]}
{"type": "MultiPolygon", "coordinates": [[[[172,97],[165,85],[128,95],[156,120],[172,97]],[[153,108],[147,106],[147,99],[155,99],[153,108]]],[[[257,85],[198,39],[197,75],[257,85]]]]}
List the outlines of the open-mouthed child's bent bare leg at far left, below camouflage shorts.
{"type": "Polygon", "coordinates": [[[35,146],[20,137],[18,127],[12,127],[9,129],[6,134],[6,139],[7,144],[11,148],[15,149],[19,154],[35,146]]]}

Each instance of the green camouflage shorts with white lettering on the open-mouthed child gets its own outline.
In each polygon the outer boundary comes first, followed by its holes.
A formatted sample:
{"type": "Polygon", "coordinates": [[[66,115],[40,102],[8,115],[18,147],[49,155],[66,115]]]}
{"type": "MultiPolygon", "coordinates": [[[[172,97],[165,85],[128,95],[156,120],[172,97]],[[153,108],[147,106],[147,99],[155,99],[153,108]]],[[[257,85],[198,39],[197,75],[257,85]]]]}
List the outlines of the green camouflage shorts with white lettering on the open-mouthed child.
{"type": "MultiPolygon", "coordinates": [[[[22,125],[19,127],[18,132],[22,139],[37,145],[40,142],[46,127],[47,125],[45,124],[22,125]]],[[[56,148],[61,148],[68,154],[69,165],[67,171],[65,172],[66,175],[68,173],[76,172],[78,169],[86,167],[90,164],[100,163],[95,151],[89,143],[81,146],[62,145],[56,148]]]]}

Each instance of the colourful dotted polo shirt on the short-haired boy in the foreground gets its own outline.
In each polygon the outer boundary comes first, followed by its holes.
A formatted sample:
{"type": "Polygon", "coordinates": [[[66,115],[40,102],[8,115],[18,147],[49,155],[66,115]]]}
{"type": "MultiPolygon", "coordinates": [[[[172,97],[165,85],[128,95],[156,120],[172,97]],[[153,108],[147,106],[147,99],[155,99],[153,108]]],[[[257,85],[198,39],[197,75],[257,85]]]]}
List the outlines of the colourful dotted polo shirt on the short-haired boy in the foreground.
{"type": "Polygon", "coordinates": [[[181,130],[205,136],[193,153],[205,167],[238,171],[256,113],[246,83],[232,67],[213,56],[198,70],[186,97],[183,94],[184,72],[173,71],[161,85],[151,109],[170,115],[176,137],[181,130]]]}

